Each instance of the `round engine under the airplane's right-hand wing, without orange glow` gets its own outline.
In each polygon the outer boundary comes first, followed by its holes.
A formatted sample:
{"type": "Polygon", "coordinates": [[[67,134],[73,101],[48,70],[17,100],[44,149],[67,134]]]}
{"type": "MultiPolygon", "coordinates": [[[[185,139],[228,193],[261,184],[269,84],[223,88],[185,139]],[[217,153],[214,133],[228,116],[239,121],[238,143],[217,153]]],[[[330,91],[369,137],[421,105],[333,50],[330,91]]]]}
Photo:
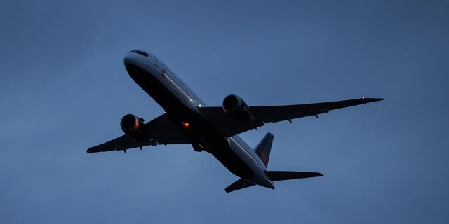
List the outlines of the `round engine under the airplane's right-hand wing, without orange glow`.
{"type": "Polygon", "coordinates": [[[248,104],[241,97],[231,94],[223,99],[223,111],[232,118],[245,122],[251,120],[248,104]]]}

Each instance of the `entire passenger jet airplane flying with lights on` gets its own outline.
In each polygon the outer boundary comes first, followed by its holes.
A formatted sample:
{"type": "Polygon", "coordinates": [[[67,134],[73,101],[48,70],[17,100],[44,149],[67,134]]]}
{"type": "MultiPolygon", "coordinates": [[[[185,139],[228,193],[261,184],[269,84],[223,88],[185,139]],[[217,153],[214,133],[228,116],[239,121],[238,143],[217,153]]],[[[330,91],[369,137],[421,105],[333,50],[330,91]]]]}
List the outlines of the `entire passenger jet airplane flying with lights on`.
{"type": "Polygon", "coordinates": [[[125,134],[87,153],[121,151],[143,146],[190,144],[194,151],[206,151],[239,177],[225,188],[227,193],[250,186],[274,189],[274,181],[323,176],[318,172],[286,172],[267,169],[273,134],[267,133],[253,149],[238,134],[257,129],[266,123],[315,116],[330,110],[383,100],[359,98],[337,102],[296,104],[286,106],[248,106],[243,99],[229,94],[222,106],[206,106],[194,92],[164,64],[161,59],[143,50],[131,50],[124,59],[126,71],[142,90],[147,92],[165,112],[145,123],[134,114],[121,118],[125,134]]]}

